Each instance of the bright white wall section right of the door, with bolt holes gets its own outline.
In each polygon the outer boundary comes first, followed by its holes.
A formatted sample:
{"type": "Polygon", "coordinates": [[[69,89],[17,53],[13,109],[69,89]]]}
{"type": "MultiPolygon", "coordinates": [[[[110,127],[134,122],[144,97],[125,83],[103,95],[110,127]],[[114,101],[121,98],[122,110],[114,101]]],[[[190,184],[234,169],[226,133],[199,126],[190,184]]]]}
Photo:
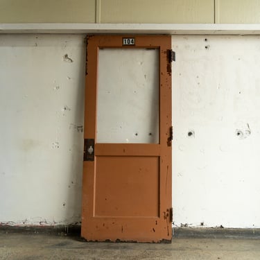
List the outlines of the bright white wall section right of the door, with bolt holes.
{"type": "Polygon", "coordinates": [[[260,37],[174,36],[173,49],[175,225],[260,227],[260,37]]]}

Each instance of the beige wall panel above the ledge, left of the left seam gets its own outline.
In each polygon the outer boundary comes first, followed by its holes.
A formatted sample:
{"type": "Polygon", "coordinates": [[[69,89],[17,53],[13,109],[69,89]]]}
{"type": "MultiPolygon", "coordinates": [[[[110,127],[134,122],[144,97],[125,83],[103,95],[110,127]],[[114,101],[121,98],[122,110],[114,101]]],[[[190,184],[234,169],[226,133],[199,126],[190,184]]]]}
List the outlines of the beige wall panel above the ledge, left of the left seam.
{"type": "Polygon", "coordinates": [[[0,0],[0,23],[92,23],[96,0],[0,0]]]}

